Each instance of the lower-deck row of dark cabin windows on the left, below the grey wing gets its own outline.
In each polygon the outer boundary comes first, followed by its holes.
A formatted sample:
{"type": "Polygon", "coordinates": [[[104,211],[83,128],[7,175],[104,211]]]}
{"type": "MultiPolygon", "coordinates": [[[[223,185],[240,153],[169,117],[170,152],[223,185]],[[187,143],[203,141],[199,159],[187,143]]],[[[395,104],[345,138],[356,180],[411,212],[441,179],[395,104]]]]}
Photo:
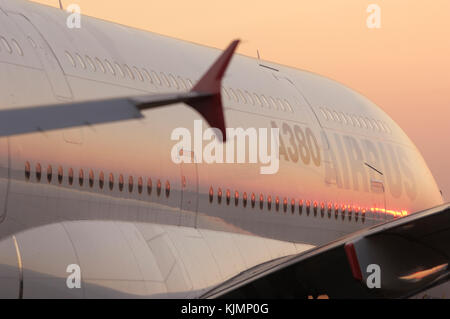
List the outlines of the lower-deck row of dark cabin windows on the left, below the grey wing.
{"type": "MultiPolygon", "coordinates": [[[[35,174],[36,174],[36,181],[40,182],[42,179],[42,167],[41,167],[41,164],[39,164],[39,163],[37,163],[35,165],[35,174]]],[[[47,174],[47,182],[51,183],[52,179],[53,179],[53,169],[52,169],[51,165],[48,165],[46,174],[47,174]]],[[[89,170],[89,174],[87,177],[88,177],[87,182],[88,182],[89,187],[93,188],[94,184],[95,184],[95,176],[94,176],[94,171],[92,169],[89,170]]],[[[25,179],[27,181],[29,181],[31,179],[31,165],[29,162],[25,163],[25,179]]],[[[59,184],[63,183],[64,169],[62,168],[62,166],[58,167],[57,179],[58,179],[59,184]]],[[[73,169],[69,168],[68,174],[67,174],[67,183],[70,186],[72,186],[75,182],[75,179],[76,179],[76,177],[74,176],[73,169]]],[[[80,168],[80,170],[78,171],[78,184],[80,185],[80,187],[82,187],[84,185],[84,180],[85,180],[84,171],[83,171],[83,169],[80,168]]],[[[105,187],[105,182],[106,182],[105,174],[103,173],[103,171],[101,171],[99,174],[99,178],[98,178],[98,187],[100,189],[103,189],[105,187]]],[[[114,190],[115,178],[114,178],[113,173],[109,174],[107,183],[108,183],[109,190],[111,190],[111,191],[114,190]]],[[[122,174],[119,175],[118,185],[119,185],[119,191],[122,192],[124,189],[124,185],[125,185],[124,177],[122,174]]],[[[129,176],[128,177],[128,192],[132,193],[134,190],[134,186],[135,186],[134,178],[133,178],[133,176],[129,176]]],[[[152,179],[149,177],[149,178],[147,178],[147,194],[148,195],[151,195],[152,187],[153,187],[152,179]]],[[[161,180],[158,179],[158,181],[156,183],[156,194],[158,196],[161,195],[161,188],[162,188],[161,180]]],[[[137,181],[138,193],[142,194],[143,189],[144,189],[144,180],[142,177],[139,177],[138,181],[137,181]]],[[[165,194],[166,194],[166,197],[169,197],[169,195],[170,195],[170,182],[169,181],[166,181],[165,194]]]]}

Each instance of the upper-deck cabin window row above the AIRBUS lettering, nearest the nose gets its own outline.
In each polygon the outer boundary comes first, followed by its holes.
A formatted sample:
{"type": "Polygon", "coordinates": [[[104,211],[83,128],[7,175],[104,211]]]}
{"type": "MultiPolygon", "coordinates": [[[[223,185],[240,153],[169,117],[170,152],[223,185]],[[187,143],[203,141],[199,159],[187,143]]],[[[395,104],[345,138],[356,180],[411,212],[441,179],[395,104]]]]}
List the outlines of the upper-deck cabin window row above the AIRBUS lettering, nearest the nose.
{"type": "Polygon", "coordinates": [[[380,120],[374,120],[367,117],[358,116],[355,114],[348,114],[343,112],[336,112],[325,107],[319,108],[322,116],[327,121],[334,121],[344,125],[352,125],[364,129],[372,129],[379,132],[389,133],[392,131],[386,123],[380,120]]]}

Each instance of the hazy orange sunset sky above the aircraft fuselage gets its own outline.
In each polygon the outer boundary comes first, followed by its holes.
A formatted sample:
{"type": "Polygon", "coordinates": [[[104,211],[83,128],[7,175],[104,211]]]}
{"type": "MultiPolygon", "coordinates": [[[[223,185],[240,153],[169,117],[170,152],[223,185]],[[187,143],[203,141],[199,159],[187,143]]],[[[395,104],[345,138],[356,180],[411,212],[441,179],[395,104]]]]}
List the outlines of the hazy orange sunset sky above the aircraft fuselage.
{"type": "MultiPolygon", "coordinates": [[[[58,6],[58,0],[36,0],[58,6]]],[[[82,13],[335,79],[383,108],[450,199],[449,0],[63,0],[82,13]],[[381,28],[369,29],[369,4],[381,28]]]]}

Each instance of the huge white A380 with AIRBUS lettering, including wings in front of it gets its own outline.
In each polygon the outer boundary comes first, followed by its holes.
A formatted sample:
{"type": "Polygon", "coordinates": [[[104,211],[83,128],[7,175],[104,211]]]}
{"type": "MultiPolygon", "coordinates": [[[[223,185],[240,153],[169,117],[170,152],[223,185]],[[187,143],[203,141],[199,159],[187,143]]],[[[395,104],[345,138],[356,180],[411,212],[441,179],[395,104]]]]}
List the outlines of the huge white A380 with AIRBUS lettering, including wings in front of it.
{"type": "Polygon", "coordinates": [[[66,19],[0,0],[1,297],[407,297],[447,280],[448,207],[366,98],[237,41],[66,19]],[[195,141],[174,162],[196,120],[224,145],[226,128],[279,128],[274,174],[200,161],[195,141]]]}

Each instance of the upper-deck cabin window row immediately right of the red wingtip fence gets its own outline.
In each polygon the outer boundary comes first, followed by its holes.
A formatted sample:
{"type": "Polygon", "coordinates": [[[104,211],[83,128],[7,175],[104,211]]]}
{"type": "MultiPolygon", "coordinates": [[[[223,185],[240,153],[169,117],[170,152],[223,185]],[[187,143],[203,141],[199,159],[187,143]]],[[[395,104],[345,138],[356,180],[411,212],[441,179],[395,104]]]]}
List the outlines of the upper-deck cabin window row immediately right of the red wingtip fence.
{"type": "Polygon", "coordinates": [[[222,88],[229,100],[241,102],[243,104],[256,105],[272,110],[294,113],[294,109],[286,99],[273,98],[271,96],[258,95],[250,93],[247,90],[242,92],[240,89],[222,88]]]}

